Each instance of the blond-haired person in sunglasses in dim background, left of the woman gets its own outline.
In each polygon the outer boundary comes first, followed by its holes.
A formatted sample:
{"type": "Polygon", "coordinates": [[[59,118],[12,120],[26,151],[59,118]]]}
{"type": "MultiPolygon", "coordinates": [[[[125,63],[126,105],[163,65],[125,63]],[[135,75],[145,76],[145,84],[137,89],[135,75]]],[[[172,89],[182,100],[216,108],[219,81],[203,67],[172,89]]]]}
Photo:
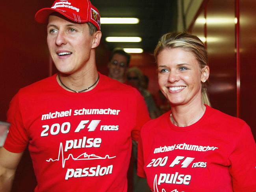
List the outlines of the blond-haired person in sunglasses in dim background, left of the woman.
{"type": "Polygon", "coordinates": [[[150,118],[157,118],[159,116],[159,111],[156,107],[152,95],[147,89],[145,89],[145,87],[147,87],[147,84],[145,82],[145,76],[143,76],[141,70],[137,67],[129,68],[126,72],[126,78],[130,85],[137,88],[144,97],[144,100],[148,107],[150,118]]]}

